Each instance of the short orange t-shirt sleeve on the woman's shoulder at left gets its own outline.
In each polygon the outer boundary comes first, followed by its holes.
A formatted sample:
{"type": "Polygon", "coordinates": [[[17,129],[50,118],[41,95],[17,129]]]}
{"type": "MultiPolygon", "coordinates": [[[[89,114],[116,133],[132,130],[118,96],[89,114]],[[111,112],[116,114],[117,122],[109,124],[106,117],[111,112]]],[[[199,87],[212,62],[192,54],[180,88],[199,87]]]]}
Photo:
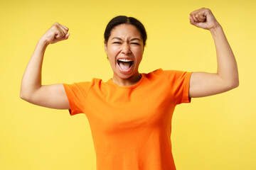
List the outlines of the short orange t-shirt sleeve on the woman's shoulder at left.
{"type": "Polygon", "coordinates": [[[63,84],[65,93],[70,104],[70,115],[84,113],[85,100],[92,86],[92,82],[80,82],[74,84],[63,84]]]}

